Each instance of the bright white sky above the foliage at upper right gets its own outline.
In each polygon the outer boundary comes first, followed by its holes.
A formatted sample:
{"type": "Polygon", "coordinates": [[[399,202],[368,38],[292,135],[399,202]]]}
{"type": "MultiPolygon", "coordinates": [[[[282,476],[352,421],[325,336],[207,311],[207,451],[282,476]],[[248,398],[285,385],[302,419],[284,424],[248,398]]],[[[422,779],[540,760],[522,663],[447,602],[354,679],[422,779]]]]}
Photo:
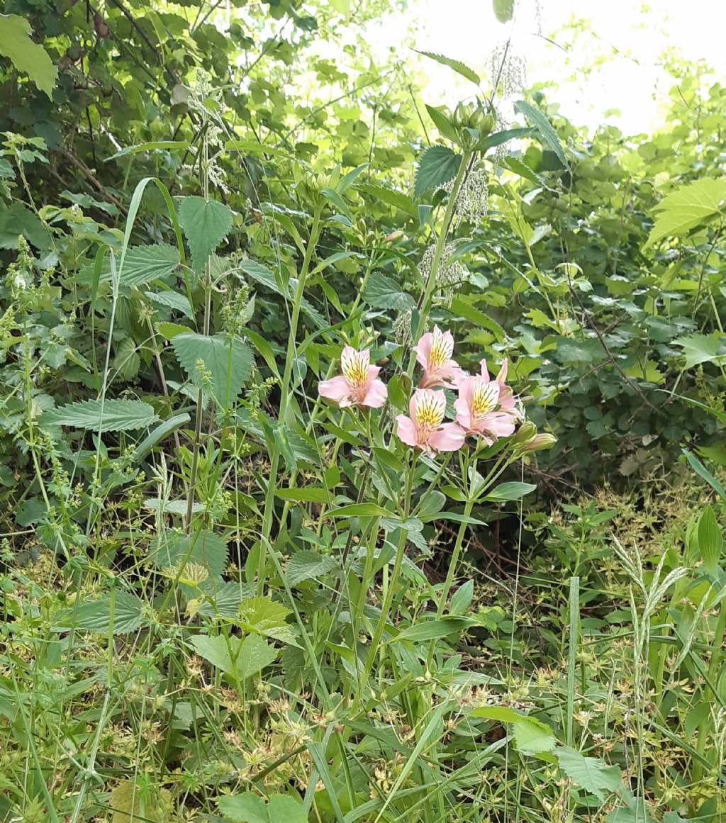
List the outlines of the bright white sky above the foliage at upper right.
{"type": "MultiPolygon", "coordinates": [[[[561,105],[562,114],[594,128],[608,112],[607,123],[626,134],[663,123],[673,81],[659,60],[669,46],[686,60],[704,59],[714,70],[710,81],[726,76],[723,0],[541,0],[542,34],[556,44],[536,34],[536,5],[537,0],[519,0],[513,23],[502,25],[491,0],[409,0],[406,12],[382,21],[371,35],[376,44],[400,53],[413,23],[417,49],[462,60],[486,76],[492,47],[511,32],[526,57],[529,84],[553,82],[556,88],[547,96],[561,105]],[[575,20],[589,21],[589,30],[575,35],[566,28],[575,20]]],[[[427,103],[454,105],[476,93],[448,68],[415,53],[410,59],[421,68],[417,85],[427,103]]]]}

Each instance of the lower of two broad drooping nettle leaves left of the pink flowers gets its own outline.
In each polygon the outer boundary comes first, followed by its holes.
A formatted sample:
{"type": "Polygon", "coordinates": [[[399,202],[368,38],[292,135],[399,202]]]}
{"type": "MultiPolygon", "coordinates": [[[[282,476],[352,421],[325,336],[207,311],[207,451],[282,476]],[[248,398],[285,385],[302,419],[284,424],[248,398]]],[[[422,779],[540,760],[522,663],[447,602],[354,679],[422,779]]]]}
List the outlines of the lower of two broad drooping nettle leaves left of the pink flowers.
{"type": "Polygon", "coordinates": [[[188,378],[202,389],[198,360],[209,372],[209,391],[222,407],[229,407],[252,373],[253,356],[239,337],[206,334],[177,334],[171,341],[176,359],[188,378]]]}

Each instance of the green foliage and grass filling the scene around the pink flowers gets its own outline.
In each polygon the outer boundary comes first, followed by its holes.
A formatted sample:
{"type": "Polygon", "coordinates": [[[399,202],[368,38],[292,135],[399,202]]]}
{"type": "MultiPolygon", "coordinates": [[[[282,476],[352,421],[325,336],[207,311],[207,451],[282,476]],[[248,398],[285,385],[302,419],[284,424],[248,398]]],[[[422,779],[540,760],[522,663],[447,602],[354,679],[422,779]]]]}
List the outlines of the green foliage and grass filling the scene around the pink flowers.
{"type": "Polygon", "coordinates": [[[724,90],[589,134],[429,55],[433,109],[387,7],[5,2],[0,819],[724,810],[724,90]],[[406,406],[442,214],[430,320],[557,444],[414,516],[314,384],[356,342],[406,406]]]}

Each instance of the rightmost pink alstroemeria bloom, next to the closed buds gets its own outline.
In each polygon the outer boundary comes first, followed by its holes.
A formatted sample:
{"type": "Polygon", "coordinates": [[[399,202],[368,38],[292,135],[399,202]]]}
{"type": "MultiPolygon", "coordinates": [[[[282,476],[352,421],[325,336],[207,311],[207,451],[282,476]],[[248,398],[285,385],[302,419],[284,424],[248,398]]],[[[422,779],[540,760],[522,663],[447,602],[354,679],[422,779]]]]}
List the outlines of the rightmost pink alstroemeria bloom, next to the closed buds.
{"type": "Polygon", "coordinates": [[[468,435],[480,435],[491,445],[500,437],[514,434],[521,415],[511,388],[505,384],[506,360],[495,380],[491,380],[482,360],[482,374],[464,378],[458,384],[458,399],[454,401],[458,424],[468,435]]]}

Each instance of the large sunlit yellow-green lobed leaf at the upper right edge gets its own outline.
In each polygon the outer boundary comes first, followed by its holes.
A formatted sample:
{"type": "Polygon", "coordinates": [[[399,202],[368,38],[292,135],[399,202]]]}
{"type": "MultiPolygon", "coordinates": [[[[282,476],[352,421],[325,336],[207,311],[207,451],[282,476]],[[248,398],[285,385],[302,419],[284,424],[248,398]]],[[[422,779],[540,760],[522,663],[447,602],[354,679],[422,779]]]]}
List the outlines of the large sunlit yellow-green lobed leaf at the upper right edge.
{"type": "Polygon", "coordinates": [[[683,235],[722,213],[726,200],[726,179],[703,177],[664,197],[654,211],[659,212],[644,249],[664,237],[683,235]]]}

